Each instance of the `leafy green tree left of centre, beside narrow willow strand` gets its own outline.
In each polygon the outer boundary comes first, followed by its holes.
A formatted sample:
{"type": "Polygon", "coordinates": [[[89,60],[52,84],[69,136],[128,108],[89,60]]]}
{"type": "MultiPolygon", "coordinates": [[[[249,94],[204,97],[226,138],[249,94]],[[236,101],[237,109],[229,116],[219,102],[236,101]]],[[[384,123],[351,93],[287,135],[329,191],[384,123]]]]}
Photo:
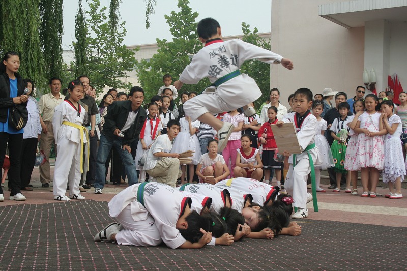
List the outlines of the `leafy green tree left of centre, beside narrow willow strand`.
{"type": "Polygon", "coordinates": [[[134,50],[122,44],[126,35],[125,22],[121,22],[112,36],[111,23],[106,16],[106,7],[100,7],[99,0],[89,2],[90,10],[86,11],[88,47],[86,58],[88,76],[98,91],[105,86],[128,90],[130,83],[120,79],[128,77],[127,71],[134,70],[136,59],[134,50]]]}

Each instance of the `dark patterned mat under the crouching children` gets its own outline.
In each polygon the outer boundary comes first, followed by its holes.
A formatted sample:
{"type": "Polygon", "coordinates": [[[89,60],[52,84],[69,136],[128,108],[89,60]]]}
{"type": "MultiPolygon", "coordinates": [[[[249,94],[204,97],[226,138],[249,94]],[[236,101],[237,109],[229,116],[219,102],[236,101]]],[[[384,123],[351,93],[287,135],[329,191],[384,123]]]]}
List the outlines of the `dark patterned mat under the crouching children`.
{"type": "MultiPolygon", "coordinates": [[[[200,250],[95,243],[112,220],[93,200],[0,208],[0,270],[389,270],[406,269],[407,229],[333,221],[302,235],[246,239],[200,250]]],[[[301,220],[303,221],[303,220],[301,220]]]]}

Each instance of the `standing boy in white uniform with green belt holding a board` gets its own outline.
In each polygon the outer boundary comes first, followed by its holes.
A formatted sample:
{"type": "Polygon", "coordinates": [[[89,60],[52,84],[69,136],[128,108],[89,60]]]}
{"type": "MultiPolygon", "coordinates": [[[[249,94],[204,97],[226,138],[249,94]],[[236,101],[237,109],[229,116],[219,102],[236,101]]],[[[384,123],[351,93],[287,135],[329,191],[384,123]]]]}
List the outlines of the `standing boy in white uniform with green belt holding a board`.
{"type": "Polygon", "coordinates": [[[303,152],[298,155],[290,155],[284,152],[284,156],[289,157],[289,169],[285,178],[284,187],[290,195],[293,195],[293,206],[298,210],[292,218],[308,217],[307,203],[312,200],[312,195],[307,193],[308,174],[313,170],[310,166],[310,159],[314,166],[321,164],[321,155],[315,147],[315,130],[317,120],[308,110],[312,106],[312,92],[308,88],[300,88],[294,93],[293,106],[295,112],[285,115],[282,121],[276,125],[282,126],[284,123],[294,123],[297,131],[298,142],[303,152]]]}

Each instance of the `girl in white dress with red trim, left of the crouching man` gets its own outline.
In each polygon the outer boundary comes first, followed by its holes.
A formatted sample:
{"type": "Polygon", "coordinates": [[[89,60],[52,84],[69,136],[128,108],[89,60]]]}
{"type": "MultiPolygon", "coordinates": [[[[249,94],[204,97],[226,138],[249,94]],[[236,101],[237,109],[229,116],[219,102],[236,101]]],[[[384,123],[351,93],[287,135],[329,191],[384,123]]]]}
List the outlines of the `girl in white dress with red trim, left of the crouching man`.
{"type": "Polygon", "coordinates": [[[146,121],[144,121],[143,128],[141,129],[140,140],[137,144],[137,153],[136,157],[134,158],[136,169],[140,170],[140,176],[138,179],[141,182],[144,182],[144,180],[146,180],[146,172],[143,170],[144,163],[140,161],[140,158],[142,158],[147,153],[151,145],[154,143],[154,140],[162,132],[162,124],[157,118],[158,105],[155,102],[151,102],[148,104],[147,108],[149,113],[147,115],[146,121]]]}

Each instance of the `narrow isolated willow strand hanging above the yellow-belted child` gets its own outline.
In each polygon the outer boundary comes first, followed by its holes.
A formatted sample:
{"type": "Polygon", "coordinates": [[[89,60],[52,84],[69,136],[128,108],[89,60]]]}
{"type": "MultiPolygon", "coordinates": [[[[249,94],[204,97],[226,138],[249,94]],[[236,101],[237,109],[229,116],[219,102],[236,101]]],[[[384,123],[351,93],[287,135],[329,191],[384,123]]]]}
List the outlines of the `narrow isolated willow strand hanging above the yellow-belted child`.
{"type": "Polygon", "coordinates": [[[75,16],[75,77],[86,74],[86,29],[85,16],[82,7],[82,0],[79,0],[78,13],[75,16]]]}

